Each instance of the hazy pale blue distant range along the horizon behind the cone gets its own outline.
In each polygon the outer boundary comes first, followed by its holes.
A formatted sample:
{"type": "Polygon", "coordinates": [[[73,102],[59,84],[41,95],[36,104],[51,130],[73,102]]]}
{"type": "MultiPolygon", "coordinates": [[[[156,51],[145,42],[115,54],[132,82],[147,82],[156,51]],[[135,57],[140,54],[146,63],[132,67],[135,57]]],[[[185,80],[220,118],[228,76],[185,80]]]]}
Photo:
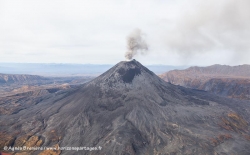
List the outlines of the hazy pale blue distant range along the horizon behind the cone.
{"type": "MultiPolygon", "coordinates": [[[[112,66],[108,64],[0,63],[0,73],[43,76],[98,76],[112,66]]],[[[147,67],[156,74],[173,69],[187,68],[186,66],[168,65],[149,65],[147,67]]]]}

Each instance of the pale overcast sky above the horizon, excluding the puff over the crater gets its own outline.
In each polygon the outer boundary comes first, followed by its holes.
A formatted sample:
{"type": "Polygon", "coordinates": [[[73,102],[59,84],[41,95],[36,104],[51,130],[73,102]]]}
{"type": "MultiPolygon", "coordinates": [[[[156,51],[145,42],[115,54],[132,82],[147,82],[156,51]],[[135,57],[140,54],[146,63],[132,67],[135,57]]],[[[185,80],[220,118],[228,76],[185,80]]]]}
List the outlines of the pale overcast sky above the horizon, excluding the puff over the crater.
{"type": "Polygon", "coordinates": [[[145,65],[250,64],[249,0],[0,0],[0,62],[115,64],[140,29],[145,65]]]}

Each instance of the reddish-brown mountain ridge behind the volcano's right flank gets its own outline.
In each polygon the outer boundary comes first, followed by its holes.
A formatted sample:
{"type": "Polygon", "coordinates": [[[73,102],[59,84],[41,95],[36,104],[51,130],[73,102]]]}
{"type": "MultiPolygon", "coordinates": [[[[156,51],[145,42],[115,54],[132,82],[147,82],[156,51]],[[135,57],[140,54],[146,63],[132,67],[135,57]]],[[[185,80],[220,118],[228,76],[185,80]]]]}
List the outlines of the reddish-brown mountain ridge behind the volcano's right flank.
{"type": "Polygon", "coordinates": [[[250,65],[190,67],[160,75],[175,85],[250,100],[250,65]]]}

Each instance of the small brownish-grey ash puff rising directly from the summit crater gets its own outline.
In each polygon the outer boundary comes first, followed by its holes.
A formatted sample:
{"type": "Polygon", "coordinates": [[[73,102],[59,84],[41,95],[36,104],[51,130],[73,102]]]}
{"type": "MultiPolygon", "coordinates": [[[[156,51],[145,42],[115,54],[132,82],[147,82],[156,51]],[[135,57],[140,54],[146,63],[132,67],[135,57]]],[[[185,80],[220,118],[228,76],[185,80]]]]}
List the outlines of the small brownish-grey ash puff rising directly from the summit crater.
{"type": "Polygon", "coordinates": [[[127,52],[125,58],[131,60],[138,53],[145,54],[148,50],[148,45],[144,40],[145,35],[140,29],[133,30],[127,37],[127,52]]]}

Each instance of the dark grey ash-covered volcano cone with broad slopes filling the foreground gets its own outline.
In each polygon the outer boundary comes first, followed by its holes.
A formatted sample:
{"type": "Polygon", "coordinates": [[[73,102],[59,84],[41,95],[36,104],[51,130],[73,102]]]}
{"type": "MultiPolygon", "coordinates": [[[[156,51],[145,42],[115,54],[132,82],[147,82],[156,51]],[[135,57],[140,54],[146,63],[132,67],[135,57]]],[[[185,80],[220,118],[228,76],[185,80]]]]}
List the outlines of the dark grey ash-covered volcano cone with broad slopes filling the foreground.
{"type": "Polygon", "coordinates": [[[247,101],[166,83],[133,60],[79,88],[2,115],[0,148],[101,146],[61,153],[249,155],[249,115],[247,101]]]}

